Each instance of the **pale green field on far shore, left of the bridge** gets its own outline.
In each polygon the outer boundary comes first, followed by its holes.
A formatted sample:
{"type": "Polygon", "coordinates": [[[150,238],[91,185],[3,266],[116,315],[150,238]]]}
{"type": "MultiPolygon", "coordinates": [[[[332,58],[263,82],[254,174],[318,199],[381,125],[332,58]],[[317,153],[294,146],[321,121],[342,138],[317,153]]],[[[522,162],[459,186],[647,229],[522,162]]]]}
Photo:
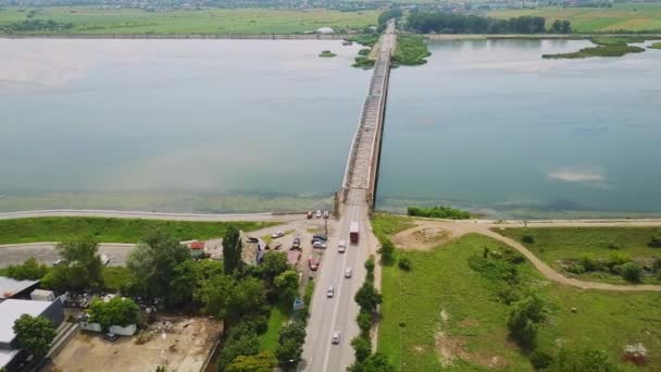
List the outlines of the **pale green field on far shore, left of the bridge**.
{"type": "Polygon", "coordinates": [[[26,20],[73,23],[65,34],[299,34],[319,27],[337,32],[376,25],[378,11],[208,9],[148,12],[135,9],[7,8],[0,28],[26,20]],[[28,12],[37,13],[28,18],[28,12]]]}

